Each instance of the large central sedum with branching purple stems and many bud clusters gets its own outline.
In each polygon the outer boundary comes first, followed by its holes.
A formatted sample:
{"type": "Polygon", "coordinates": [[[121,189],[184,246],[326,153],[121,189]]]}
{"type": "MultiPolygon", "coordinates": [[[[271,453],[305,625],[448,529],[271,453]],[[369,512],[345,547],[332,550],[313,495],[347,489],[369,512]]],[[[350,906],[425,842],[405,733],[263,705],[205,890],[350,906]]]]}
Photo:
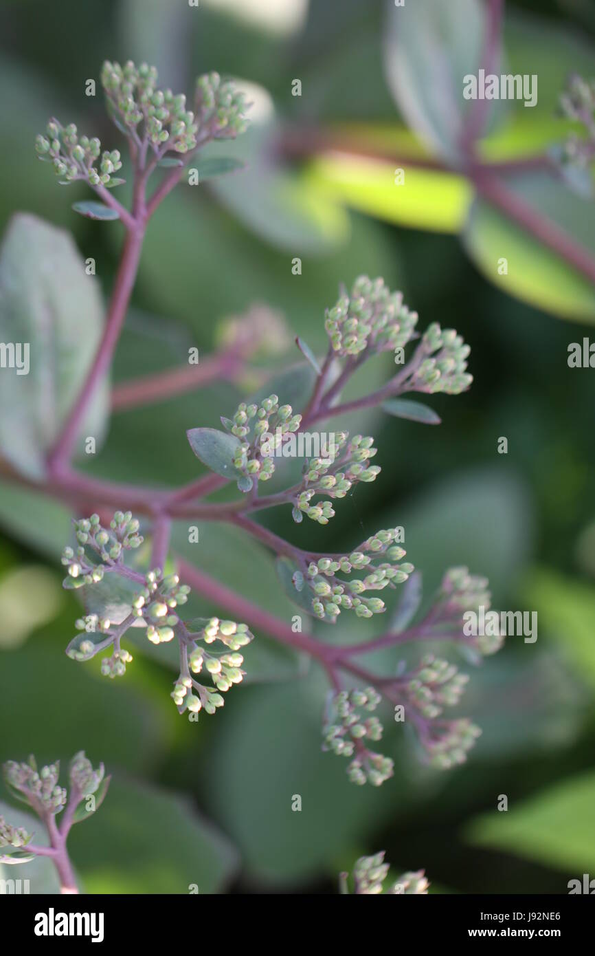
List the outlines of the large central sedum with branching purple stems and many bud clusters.
{"type": "MultiPolygon", "coordinates": [[[[354,541],[351,551],[329,554],[299,548],[256,520],[259,511],[287,508],[297,523],[306,517],[326,526],[335,508],[349,507],[341,502],[355,486],[370,485],[380,474],[371,436],[340,430],[331,433],[328,447],[304,451],[313,426],[377,406],[420,423],[439,422],[432,409],[402,397],[457,396],[469,388],[470,349],[456,330],[432,322],[422,331],[402,293],[388,289],[381,278],[360,275],[351,288],[339,290],[321,318],[328,338],[326,354],[316,357],[307,343],[296,339],[312,381],[299,408],[271,391],[266,398],[246,397],[235,410],[222,409],[226,414],[221,429],[201,423],[189,429],[187,440],[207,473],[182,488],[153,489],[92,479],[75,469],[81,428],[113,359],[150,219],[181,182],[191,160],[196,158],[199,175],[205,168],[208,175],[235,168],[233,158],[202,161],[198,154],[209,141],[233,140],[246,125],[243,94],[217,74],[197,80],[190,103],[183,95],[159,89],[157,71],[146,64],[136,67],[128,62],[122,67],[107,62],[101,79],[108,114],[127,143],[133,181],[130,208],[122,206],[112,191],[121,184],[115,173],[125,163],[118,150],[101,151],[96,138],[80,136],[73,124],[63,127],[57,120],[50,120],[36,141],[39,158],[53,163],[61,183],[84,181],[100,200],[75,204],[75,210],[96,219],[119,219],[126,233],[95,359],[47,452],[43,480],[28,479],[30,486],[70,502],[75,515],[73,540],[62,563],[65,587],[82,597],[84,613],[76,620],[78,633],[68,644],[68,656],[87,662],[100,655],[101,673],[117,678],[132,663],[122,641],[127,645],[129,638],[142,632],[155,645],[174,642],[180,672],[171,696],[181,713],[188,711],[195,719],[199,711],[212,714],[223,706],[225,693],[242,682],[243,651],[252,641],[249,628],[253,628],[257,635],[266,633],[307,654],[323,668],[329,695],[326,705],[321,701],[322,746],[348,759],[348,776],[355,784],[378,786],[393,775],[391,755],[375,748],[382,738],[382,714],[396,713],[397,708],[414,729],[424,761],[436,768],[463,762],[479,729],[467,718],[447,712],[457,706],[467,676],[434,654],[420,654],[417,663],[404,665],[396,674],[372,669],[361,659],[373,650],[423,641],[459,645],[476,662],[498,650],[499,639],[463,633],[463,614],[480,604],[489,607],[488,582],[466,568],[446,569],[430,610],[412,624],[421,591],[419,575],[401,547],[402,529],[378,529],[365,541],[354,541]],[[160,181],[151,191],[154,176],[160,181]],[[354,373],[383,355],[393,367],[385,384],[344,400],[354,373]],[[276,463],[287,457],[303,459],[299,480],[264,493],[276,463]],[[208,500],[227,484],[236,486],[233,500],[208,500]],[[302,633],[175,554],[171,526],[183,519],[227,522],[263,543],[276,555],[281,584],[300,613],[321,625],[336,626],[342,615],[350,613],[353,619],[381,620],[386,603],[380,593],[395,590],[401,592],[396,617],[379,627],[375,637],[357,643],[331,643],[302,633]],[[222,618],[184,619],[191,589],[221,608],[222,618]]],[[[271,333],[272,337],[278,333],[274,321],[271,326],[268,319],[258,322],[250,314],[245,321],[236,321],[220,351],[203,362],[200,382],[223,373],[229,377],[230,369],[243,370],[255,338],[271,333]]],[[[114,403],[130,406],[178,394],[198,382],[189,380],[187,373],[185,368],[179,374],[133,380],[119,389],[114,403]]],[[[313,434],[320,437],[319,432],[313,434]]],[[[18,481],[18,473],[13,478],[18,481]]]]}

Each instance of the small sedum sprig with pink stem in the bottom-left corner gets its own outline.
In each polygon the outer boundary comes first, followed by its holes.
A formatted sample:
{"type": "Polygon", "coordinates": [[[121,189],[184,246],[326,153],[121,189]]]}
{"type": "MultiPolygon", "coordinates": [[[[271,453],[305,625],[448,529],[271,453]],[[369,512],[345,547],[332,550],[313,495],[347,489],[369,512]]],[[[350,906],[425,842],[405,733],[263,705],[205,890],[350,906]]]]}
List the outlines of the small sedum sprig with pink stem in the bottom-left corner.
{"type": "Polygon", "coordinates": [[[32,843],[33,834],[23,827],[11,826],[0,816],[0,863],[29,863],[35,857],[49,858],[60,881],[60,891],[77,893],[66,843],[74,824],[95,814],[105,799],[110,777],[105,776],[103,764],[94,770],[84,750],[76,753],[69,767],[70,792],[59,784],[59,761],[38,769],[31,756],[22,764],[9,760],[3,770],[7,790],[39,817],[50,845],[32,843]]]}

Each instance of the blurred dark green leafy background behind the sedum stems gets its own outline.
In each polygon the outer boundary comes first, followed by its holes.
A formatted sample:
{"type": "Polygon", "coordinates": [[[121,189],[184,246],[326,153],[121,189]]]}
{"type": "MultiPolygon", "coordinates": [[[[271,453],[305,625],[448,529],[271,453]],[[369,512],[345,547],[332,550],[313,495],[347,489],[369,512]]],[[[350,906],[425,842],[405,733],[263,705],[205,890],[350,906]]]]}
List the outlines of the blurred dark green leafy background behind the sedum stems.
{"type": "MultiPolygon", "coordinates": [[[[403,525],[428,597],[446,568],[466,564],[490,577],[495,607],[539,615],[536,643],[512,639],[471,668],[461,712],[483,735],[464,767],[428,770],[414,740],[388,728],[394,777],[378,791],[358,789],[344,762],[320,750],[322,675],[266,637],[250,680],[198,725],[178,716],[168,696],[174,675],[157,657],[138,650],[116,682],[100,678],[97,661],[68,660],[79,614],[60,587],[69,512],[2,482],[0,759],[35,752],[67,761],[85,749],[113,772],[101,812],[71,839],[88,891],[184,893],[194,883],[200,892],[335,892],[339,870],[381,848],[398,872],[424,867],[433,892],[565,893],[568,880],[595,877],[595,373],[567,366],[570,342],[595,339],[595,290],[515,223],[474,205],[464,176],[406,162],[428,156],[419,134],[433,124],[434,155],[448,141],[448,98],[437,98],[428,63],[448,69],[461,44],[473,53],[482,8],[471,0],[406,0],[398,11],[372,0],[201,0],[199,10],[185,0],[0,4],[0,218],[28,210],[72,230],[84,257],[96,258],[105,295],[121,228],[73,213],[84,189],[67,195],[56,185],[36,162],[35,134],[55,115],[121,146],[100,93],[84,96],[87,78],[99,85],[104,58],[146,59],[174,89],[190,90],[193,76],[213,69],[254,84],[257,122],[233,146],[247,171],[209,188],[181,186],[150,227],[114,380],[179,364],[192,345],[206,353],[223,320],[251,303],[285,315],[288,335],[321,352],[324,308],[339,283],[384,276],[422,326],[437,320],[471,344],[474,384],[429,400],[439,427],[378,411],[347,423],[374,435],[382,473],[338,503],[328,528],[294,526],[288,509],[263,520],[325,551],[403,525]],[[291,95],[296,78],[301,97],[291,95]],[[403,187],[393,185],[399,166],[403,187]],[[291,272],[295,256],[301,275],[291,272]],[[501,256],[507,275],[497,272],[501,256]],[[497,452],[501,436],[506,455],[497,452]],[[291,812],[295,793],[301,813],[291,812]],[[496,810],[500,794],[507,813],[496,810]]],[[[572,71],[595,75],[594,32],[587,0],[507,4],[504,62],[538,74],[539,101],[504,104],[481,143],[484,157],[508,162],[564,140],[570,126],[556,116],[557,98],[572,71]]],[[[536,172],[508,183],[595,258],[588,175],[582,193],[536,172]]],[[[300,359],[288,343],[258,359],[261,375],[300,359]]],[[[387,359],[372,369],[372,385],[389,373],[387,359]]],[[[252,371],[117,414],[106,444],[80,467],[115,481],[190,481],[201,471],[185,430],[216,426],[258,380],[252,371]]],[[[200,533],[198,546],[186,544],[189,559],[290,619],[269,554],[223,527],[200,533]]],[[[182,547],[185,528],[176,534],[182,547]]],[[[344,617],[341,639],[373,633],[344,617]]],[[[449,653],[464,668],[457,650],[449,653]]],[[[45,863],[19,875],[31,876],[34,892],[55,888],[45,863]]]]}

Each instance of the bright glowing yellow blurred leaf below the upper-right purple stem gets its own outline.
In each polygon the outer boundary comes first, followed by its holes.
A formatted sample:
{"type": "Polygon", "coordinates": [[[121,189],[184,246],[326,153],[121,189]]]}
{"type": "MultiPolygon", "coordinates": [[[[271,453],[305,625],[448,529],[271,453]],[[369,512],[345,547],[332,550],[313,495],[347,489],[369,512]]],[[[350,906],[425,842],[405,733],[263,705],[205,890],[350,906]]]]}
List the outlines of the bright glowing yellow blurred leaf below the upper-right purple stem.
{"type": "Polygon", "coordinates": [[[337,202],[397,226],[457,233],[465,223],[473,188],[463,176],[418,169],[406,161],[326,154],[308,167],[312,182],[337,202]],[[403,181],[395,172],[403,170],[403,181]]]}

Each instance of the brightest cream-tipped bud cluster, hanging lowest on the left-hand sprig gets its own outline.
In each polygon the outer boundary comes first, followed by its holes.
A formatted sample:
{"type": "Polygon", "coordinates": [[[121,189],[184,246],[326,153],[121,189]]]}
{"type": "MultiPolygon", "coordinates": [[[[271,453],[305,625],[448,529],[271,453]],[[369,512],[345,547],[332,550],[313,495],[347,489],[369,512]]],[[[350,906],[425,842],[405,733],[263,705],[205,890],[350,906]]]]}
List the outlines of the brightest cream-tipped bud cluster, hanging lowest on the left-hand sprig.
{"type": "Polygon", "coordinates": [[[241,665],[244,657],[239,650],[253,640],[253,635],[247,624],[237,624],[235,620],[210,618],[198,619],[194,623],[200,625],[200,629],[187,635],[187,671],[181,673],[171,696],[180,713],[186,709],[194,713],[202,709],[206,713],[214,713],[217,707],[223,706],[219,691],[224,693],[232,684],[242,683],[245,671],[241,665]],[[220,641],[227,651],[215,653],[207,650],[199,641],[209,647],[215,641],[220,641]],[[208,676],[217,689],[193,680],[191,671],[208,676]]]}

